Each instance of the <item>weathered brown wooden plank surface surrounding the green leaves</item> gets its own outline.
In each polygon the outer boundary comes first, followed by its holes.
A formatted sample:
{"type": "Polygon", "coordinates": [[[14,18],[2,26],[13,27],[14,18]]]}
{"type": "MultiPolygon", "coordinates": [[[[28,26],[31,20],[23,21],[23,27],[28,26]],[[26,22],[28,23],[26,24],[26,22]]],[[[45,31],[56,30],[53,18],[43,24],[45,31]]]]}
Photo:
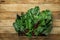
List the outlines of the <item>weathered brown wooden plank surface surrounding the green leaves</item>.
{"type": "MultiPolygon", "coordinates": [[[[47,37],[37,40],[60,40],[60,0],[0,0],[0,40],[29,40],[26,36],[18,36],[14,27],[16,14],[39,6],[40,10],[49,9],[53,16],[53,29],[47,37]]],[[[36,40],[32,37],[30,40],[36,40]]]]}

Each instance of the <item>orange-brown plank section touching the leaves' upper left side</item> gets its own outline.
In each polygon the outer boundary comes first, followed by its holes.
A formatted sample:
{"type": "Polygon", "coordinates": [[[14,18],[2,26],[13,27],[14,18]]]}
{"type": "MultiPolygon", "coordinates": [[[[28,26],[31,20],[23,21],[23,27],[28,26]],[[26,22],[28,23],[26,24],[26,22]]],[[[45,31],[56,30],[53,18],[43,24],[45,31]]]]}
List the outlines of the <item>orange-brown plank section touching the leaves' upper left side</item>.
{"type": "Polygon", "coordinates": [[[0,20],[3,19],[16,19],[16,15],[21,15],[20,12],[0,12],[0,20]],[[2,17],[3,16],[3,17],[2,17]]]}

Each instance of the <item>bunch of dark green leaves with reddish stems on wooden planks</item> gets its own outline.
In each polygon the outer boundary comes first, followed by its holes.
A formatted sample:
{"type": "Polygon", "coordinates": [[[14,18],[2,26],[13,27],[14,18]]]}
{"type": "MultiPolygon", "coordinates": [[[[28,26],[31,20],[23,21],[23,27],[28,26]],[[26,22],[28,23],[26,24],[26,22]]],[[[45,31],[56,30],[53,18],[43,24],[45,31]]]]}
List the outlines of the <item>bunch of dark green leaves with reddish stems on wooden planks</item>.
{"type": "Polygon", "coordinates": [[[41,34],[48,35],[52,30],[52,14],[50,10],[40,12],[39,6],[29,9],[26,13],[17,14],[13,23],[16,32],[25,32],[28,37],[32,34],[38,36],[41,34]]]}

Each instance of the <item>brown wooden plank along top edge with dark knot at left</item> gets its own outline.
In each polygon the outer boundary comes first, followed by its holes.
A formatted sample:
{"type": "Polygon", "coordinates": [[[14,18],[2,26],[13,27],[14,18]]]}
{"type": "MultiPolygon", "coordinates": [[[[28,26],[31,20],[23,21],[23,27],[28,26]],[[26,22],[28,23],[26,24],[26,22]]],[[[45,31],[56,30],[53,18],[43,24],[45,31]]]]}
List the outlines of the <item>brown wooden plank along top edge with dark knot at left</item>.
{"type": "Polygon", "coordinates": [[[0,0],[0,4],[60,4],[60,0],[0,0]]]}

